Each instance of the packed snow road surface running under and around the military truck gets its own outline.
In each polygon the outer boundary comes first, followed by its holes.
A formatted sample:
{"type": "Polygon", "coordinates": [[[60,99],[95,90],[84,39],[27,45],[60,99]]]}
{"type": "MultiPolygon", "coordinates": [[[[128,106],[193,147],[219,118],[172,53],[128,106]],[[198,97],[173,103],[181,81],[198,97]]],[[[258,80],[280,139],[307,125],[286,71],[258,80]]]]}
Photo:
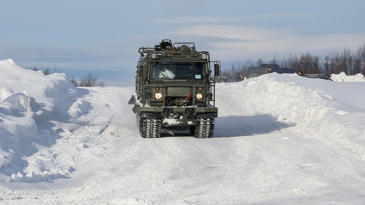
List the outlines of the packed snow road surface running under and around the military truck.
{"type": "Polygon", "coordinates": [[[144,139],[127,105],[134,88],[90,88],[82,97],[91,106],[79,119],[82,126],[61,131],[49,147],[56,162],[74,170],[54,183],[2,182],[12,190],[0,192],[0,204],[365,201],[362,149],[314,137],[303,124],[277,116],[252,86],[218,86],[219,118],[209,139],[191,137],[188,127],[144,139]]]}

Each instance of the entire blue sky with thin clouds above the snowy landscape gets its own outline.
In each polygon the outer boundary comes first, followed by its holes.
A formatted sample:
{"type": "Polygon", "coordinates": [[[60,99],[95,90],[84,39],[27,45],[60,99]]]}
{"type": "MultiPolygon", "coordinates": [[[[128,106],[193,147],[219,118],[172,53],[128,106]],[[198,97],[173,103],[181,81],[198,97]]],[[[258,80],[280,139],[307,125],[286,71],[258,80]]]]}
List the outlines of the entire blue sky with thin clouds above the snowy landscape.
{"type": "Polygon", "coordinates": [[[0,59],[133,86],[139,47],[194,42],[222,69],[365,43],[364,0],[0,0],[0,59]]]}

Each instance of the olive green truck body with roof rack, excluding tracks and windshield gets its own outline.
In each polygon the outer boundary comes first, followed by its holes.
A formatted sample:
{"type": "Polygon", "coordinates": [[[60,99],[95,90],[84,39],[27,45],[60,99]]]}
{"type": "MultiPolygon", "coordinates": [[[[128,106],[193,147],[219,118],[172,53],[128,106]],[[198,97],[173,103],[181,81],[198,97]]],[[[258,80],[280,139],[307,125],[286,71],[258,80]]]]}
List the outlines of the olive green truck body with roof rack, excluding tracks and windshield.
{"type": "MultiPolygon", "coordinates": [[[[133,112],[139,118],[173,119],[173,123],[164,120],[162,125],[195,125],[196,118],[218,117],[218,108],[215,106],[215,83],[220,81],[220,62],[210,61],[207,51],[196,51],[194,43],[174,43],[172,46],[170,40],[162,40],[161,43],[164,42],[170,44],[162,46],[162,50],[161,48],[156,50],[156,46],[141,47],[138,50],[141,57],[135,76],[136,93],[128,102],[135,105],[133,112]],[[191,62],[202,65],[202,77],[196,75],[200,79],[153,79],[152,70],[156,64],[191,62]],[[213,71],[211,64],[214,65],[213,71]],[[161,99],[155,98],[157,92],[161,93],[161,99]],[[197,99],[197,94],[202,98],[197,99]]],[[[177,75],[179,71],[175,71],[177,75]]]]}

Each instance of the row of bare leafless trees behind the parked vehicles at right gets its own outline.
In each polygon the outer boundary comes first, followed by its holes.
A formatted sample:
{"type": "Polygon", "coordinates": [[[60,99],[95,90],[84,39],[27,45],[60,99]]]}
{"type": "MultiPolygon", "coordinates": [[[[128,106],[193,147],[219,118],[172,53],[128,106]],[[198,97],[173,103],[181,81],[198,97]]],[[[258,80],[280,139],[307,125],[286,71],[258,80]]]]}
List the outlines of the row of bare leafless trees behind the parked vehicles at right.
{"type": "Polygon", "coordinates": [[[245,64],[237,61],[236,64],[231,65],[231,69],[223,71],[222,75],[235,77],[238,73],[242,73],[245,77],[248,67],[261,66],[262,63],[279,64],[280,67],[295,68],[303,71],[304,74],[324,74],[330,76],[333,73],[338,74],[343,71],[347,75],[358,73],[365,75],[365,43],[359,46],[356,51],[344,48],[342,51],[334,50],[324,56],[311,54],[307,51],[300,56],[284,55],[281,59],[278,59],[278,55],[274,54],[273,58],[268,61],[264,61],[262,58],[259,58],[256,62],[252,62],[250,59],[246,60],[245,64]]]}

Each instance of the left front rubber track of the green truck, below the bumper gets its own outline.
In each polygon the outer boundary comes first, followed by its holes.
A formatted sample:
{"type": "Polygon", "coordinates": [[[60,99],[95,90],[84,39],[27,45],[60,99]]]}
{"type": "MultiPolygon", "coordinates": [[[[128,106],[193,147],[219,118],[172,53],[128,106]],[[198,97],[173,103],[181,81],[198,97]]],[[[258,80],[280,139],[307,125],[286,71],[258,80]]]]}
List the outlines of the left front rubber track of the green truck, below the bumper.
{"type": "Polygon", "coordinates": [[[161,118],[139,118],[139,134],[143,138],[157,138],[161,136],[161,118]]]}

